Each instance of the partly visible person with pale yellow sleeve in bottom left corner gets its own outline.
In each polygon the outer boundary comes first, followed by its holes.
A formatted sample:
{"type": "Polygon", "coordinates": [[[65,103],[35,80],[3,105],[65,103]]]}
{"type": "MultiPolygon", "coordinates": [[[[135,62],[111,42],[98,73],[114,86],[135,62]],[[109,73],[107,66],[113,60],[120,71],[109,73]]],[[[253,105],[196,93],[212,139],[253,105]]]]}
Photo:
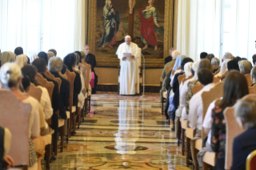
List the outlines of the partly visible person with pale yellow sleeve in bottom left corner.
{"type": "Polygon", "coordinates": [[[0,127],[0,168],[14,167],[14,160],[8,156],[10,150],[11,134],[8,128],[0,127]]]}

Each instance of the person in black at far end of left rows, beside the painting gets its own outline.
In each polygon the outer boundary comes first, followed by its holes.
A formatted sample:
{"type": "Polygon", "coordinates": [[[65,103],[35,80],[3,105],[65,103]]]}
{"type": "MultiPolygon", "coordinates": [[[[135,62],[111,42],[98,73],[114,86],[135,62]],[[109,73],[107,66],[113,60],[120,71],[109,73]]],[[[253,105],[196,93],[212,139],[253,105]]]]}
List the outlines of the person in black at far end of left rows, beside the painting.
{"type": "MultiPolygon", "coordinates": [[[[95,74],[95,70],[94,68],[97,66],[97,63],[96,63],[96,59],[95,59],[95,55],[92,55],[90,53],[90,47],[88,45],[85,45],[83,47],[83,51],[85,52],[85,59],[84,61],[87,63],[87,64],[90,64],[91,65],[91,82],[90,82],[90,85],[91,85],[91,94],[96,94],[96,91],[97,91],[97,83],[98,83],[98,75],[95,74]],[[94,78],[94,79],[93,79],[94,78]]],[[[82,55],[83,55],[83,51],[81,52],[82,55]]]]}

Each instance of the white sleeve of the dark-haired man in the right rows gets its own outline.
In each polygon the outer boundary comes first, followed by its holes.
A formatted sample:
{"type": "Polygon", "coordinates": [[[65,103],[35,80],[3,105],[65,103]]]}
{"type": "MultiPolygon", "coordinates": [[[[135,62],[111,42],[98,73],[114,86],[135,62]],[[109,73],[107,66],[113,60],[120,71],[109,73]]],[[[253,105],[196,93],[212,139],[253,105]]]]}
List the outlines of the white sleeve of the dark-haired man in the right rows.
{"type": "Polygon", "coordinates": [[[195,95],[189,100],[189,127],[196,129],[197,127],[197,104],[194,102],[195,95]]]}

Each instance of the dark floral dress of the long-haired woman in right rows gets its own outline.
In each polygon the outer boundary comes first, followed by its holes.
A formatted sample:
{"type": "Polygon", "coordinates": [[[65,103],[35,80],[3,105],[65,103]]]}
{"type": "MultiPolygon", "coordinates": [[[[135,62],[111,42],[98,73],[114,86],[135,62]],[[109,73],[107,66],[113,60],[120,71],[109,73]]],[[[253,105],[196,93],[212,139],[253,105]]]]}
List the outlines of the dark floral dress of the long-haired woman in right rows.
{"type": "Polygon", "coordinates": [[[217,152],[216,164],[213,169],[224,169],[226,150],[226,119],[221,107],[215,106],[212,111],[211,147],[217,152]]]}

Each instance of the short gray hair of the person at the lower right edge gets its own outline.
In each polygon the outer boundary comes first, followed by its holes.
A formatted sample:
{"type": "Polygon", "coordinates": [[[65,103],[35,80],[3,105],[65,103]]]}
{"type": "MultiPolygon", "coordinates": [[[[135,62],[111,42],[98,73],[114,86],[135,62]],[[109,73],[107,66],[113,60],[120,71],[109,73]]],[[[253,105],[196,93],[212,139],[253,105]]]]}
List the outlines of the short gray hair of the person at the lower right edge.
{"type": "Polygon", "coordinates": [[[234,114],[237,118],[241,119],[246,129],[256,127],[256,100],[239,100],[236,104],[234,114]]]}

